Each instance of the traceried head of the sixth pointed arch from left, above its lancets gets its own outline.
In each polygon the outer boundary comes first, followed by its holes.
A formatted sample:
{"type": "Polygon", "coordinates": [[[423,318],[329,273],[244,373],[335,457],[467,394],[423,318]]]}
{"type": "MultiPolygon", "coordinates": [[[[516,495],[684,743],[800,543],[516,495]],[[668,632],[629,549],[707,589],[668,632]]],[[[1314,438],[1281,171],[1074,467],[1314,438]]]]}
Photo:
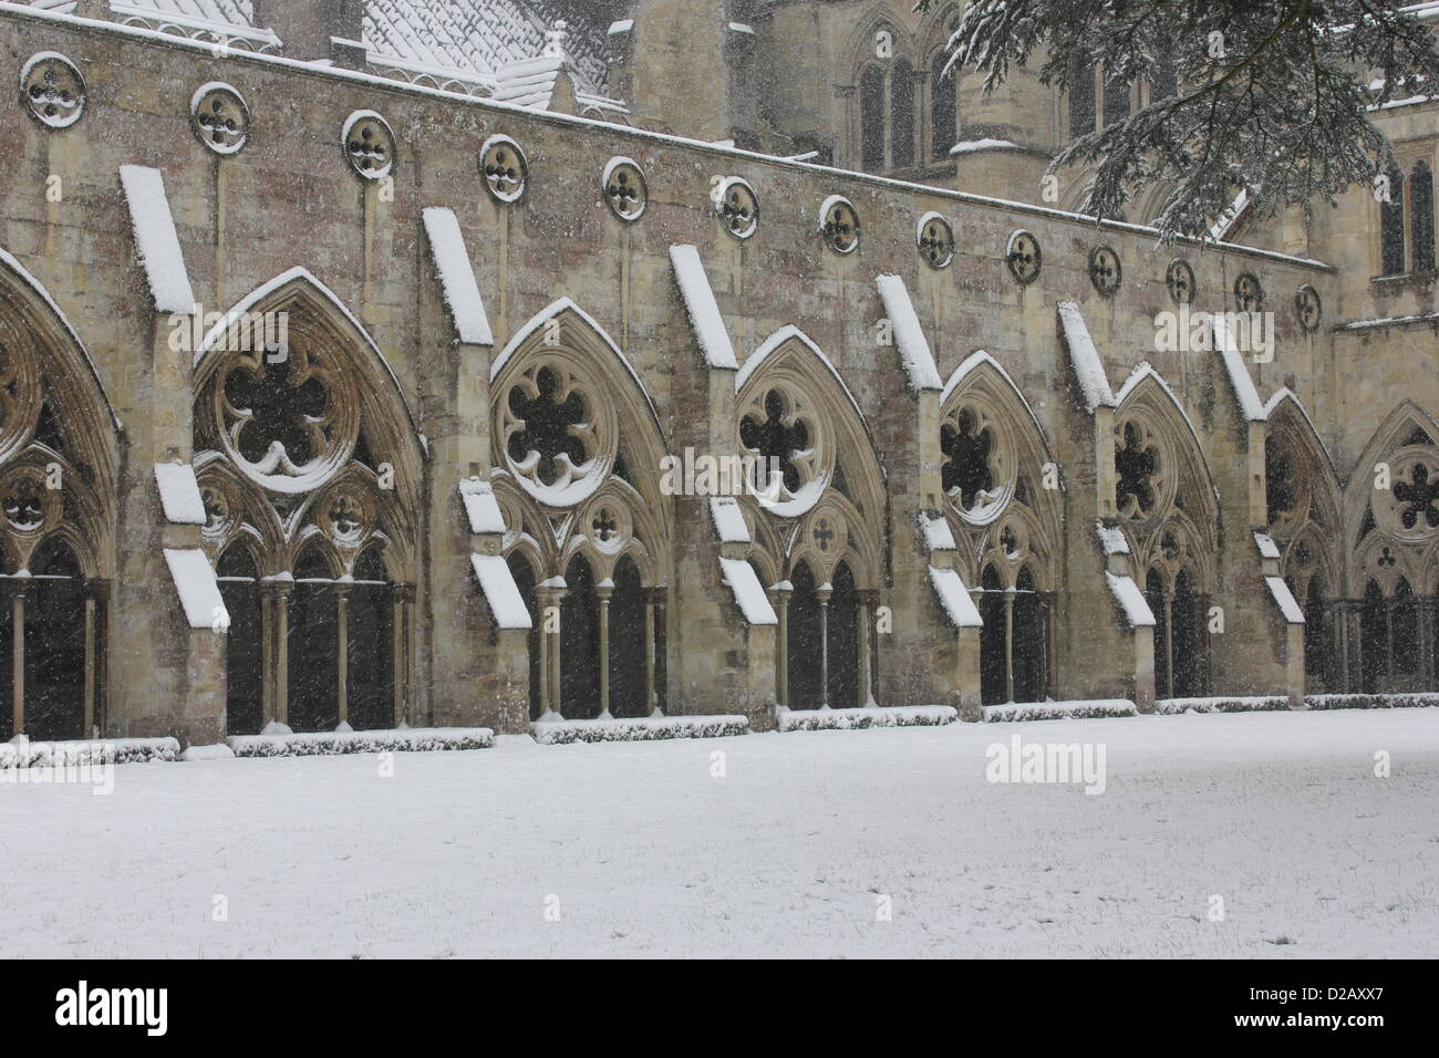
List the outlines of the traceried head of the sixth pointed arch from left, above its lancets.
{"type": "Polygon", "coordinates": [[[1193,423],[1164,379],[1140,364],[1117,394],[1115,508],[1135,569],[1176,561],[1176,546],[1215,590],[1219,498],[1193,423]]]}

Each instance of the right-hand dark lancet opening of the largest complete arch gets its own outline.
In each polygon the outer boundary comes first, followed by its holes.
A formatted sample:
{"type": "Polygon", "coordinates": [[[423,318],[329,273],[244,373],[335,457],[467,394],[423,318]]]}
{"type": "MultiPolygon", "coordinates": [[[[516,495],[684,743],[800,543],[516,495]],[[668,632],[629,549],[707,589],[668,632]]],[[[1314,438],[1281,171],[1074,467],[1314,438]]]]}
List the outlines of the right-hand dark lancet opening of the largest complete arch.
{"type": "Polygon", "coordinates": [[[380,548],[361,553],[345,592],[345,704],[350,727],[394,727],[394,584],[380,548]]]}

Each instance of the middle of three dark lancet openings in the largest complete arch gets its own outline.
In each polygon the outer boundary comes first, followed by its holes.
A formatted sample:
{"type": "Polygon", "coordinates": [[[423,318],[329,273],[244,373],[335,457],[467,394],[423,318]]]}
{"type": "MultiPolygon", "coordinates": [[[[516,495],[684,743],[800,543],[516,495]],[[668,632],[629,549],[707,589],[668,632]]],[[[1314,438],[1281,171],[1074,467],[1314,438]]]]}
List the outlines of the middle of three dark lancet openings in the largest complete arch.
{"type": "Polygon", "coordinates": [[[289,597],[289,727],[334,731],[340,725],[340,622],[335,574],[318,544],[295,561],[289,597]]]}

